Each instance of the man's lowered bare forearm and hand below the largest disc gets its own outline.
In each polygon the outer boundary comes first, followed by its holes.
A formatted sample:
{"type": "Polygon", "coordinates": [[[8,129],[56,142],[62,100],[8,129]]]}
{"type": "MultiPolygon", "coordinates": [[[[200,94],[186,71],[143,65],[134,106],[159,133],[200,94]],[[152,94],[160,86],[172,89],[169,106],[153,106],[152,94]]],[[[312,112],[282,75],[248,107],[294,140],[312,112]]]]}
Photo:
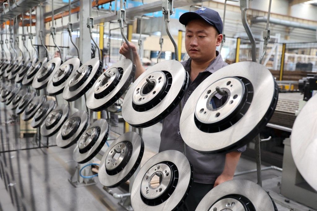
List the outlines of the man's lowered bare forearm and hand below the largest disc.
{"type": "Polygon", "coordinates": [[[216,179],[214,187],[223,182],[233,179],[240,156],[241,152],[236,151],[226,154],[223,172],[216,179]]]}

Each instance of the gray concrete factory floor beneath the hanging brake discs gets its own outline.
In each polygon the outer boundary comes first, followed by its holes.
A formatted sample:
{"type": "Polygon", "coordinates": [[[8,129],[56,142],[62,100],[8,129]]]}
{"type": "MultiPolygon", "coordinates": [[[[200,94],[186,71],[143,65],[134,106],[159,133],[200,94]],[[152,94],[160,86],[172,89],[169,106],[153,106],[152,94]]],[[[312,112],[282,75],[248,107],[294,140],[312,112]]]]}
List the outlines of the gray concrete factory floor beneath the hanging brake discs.
{"type": "MultiPolygon", "coordinates": [[[[120,123],[123,124],[123,123],[120,123]]],[[[143,129],[143,139],[145,141],[145,154],[141,163],[152,157],[159,149],[159,133],[162,125],[160,123],[143,129]]],[[[116,135],[112,132],[112,138],[116,135]]],[[[12,140],[12,139],[11,139],[12,140]]],[[[22,140],[22,139],[21,139],[22,140]]],[[[109,141],[111,144],[111,141],[109,141]]],[[[107,148],[104,146],[102,151],[107,148]]],[[[6,190],[16,186],[18,195],[28,203],[31,210],[125,210],[118,202],[108,194],[95,177],[96,184],[86,187],[75,188],[68,182],[74,175],[77,163],[72,159],[74,146],[68,149],[61,149],[57,146],[32,150],[19,150],[2,153],[7,162],[7,169],[15,178],[15,183],[5,184],[0,181],[0,211],[1,210],[23,210],[21,204],[12,205],[10,191],[6,190]]],[[[264,165],[263,165],[264,167],[264,165]]],[[[256,163],[241,158],[236,172],[256,169],[256,163]]],[[[256,173],[237,176],[235,178],[248,179],[256,182],[256,173]]],[[[281,172],[277,170],[267,170],[262,172],[263,188],[271,194],[272,198],[282,197],[279,195],[281,182],[281,172]]],[[[12,190],[12,189],[11,189],[12,190]]],[[[114,188],[115,193],[124,193],[121,188],[114,188]]],[[[16,194],[12,191],[12,194],[16,194]]],[[[16,203],[15,201],[13,203],[16,203]]],[[[288,210],[312,210],[296,202],[290,201],[288,206],[276,203],[279,211],[288,210]],[[294,205],[294,207],[292,207],[294,205]],[[298,209],[298,208],[302,209],[298,209]],[[293,208],[293,209],[291,209],[293,208]]]]}

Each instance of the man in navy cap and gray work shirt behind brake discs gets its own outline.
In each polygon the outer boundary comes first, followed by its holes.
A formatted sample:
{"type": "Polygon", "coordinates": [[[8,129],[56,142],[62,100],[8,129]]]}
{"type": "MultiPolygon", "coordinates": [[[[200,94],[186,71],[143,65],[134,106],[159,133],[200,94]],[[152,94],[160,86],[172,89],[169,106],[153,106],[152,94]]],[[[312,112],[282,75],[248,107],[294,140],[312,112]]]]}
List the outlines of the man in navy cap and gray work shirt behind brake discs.
{"type": "MultiPolygon", "coordinates": [[[[189,59],[182,64],[190,75],[188,89],[182,99],[184,105],[195,88],[210,74],[227,66],[216,51],[223,39],[223,22],[217,11],[202,7],[194,12],[186,12],[180,16],[179,22],[185,25],[185,47],[189,59]]],[[[139,77],[145,69],[142,67],[137,48],[130,43],[136,65],[135,77],[139,77]]],[[[119,50],[126,58],[129,48],[123,43],[119,50]]],[[[217,95],[213,99],[217,107],[221,106],[227,96],[217,95]]],[[[159,151],[178,150],[183,152],[184,141],[179,132],[180,113],[178,106],[164,119],[159,151]]],[[[207,142],[208,140],[206,140],[207,142]]],[[[219,140],[221,142],[221,140],[219,140]]],[[[186,157],[193,165],[193,184],[184,204],[179,210],[195,210],[201,199],[215,186],[233,179],[241,152],[246,146],[223,154],[205,155],[186,146],[186,157]]],[[[171,155],[172,156],[172,155],[171,155]]],[[[230,187],[228,187],[230,188],[230,187]]]]}

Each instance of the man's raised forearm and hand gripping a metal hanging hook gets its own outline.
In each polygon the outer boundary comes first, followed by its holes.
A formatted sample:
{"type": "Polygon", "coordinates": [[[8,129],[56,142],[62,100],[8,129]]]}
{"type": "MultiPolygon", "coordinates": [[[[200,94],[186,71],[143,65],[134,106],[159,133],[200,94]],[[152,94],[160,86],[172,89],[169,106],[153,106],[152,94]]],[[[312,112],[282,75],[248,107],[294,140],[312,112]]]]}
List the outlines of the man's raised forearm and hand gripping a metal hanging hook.
{"type": "MultiPolygon", "coordinates": [[[[129,42],[130,47],[132,48],[133,60],[136,67],[135,70],[135,79],[137,79],[142,73],[145,72],[145,68],[141,64],[141,60],[138,54],[138,50],[132,42],[129,42]]],[[[130,49],[126,42],[124,42],[119,50],[119,53],[124,55],[127,59],[130,58],[130,49]]]]}

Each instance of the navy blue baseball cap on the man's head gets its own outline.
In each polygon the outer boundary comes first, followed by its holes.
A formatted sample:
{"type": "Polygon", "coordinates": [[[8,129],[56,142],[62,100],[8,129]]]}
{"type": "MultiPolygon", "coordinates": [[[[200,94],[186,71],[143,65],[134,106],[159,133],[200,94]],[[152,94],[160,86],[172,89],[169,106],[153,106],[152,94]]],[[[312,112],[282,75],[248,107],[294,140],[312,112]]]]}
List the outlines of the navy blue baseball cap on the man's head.
{"type": "Polygon", "coordinates": [[[194,12],[185,12],[179,17],[179,22],[186,26],[188,22],[196,19],[202,19],[210,25],[213,25],[217,29],[218,33],[222,34],[223,23],[217,11],[211,10],[207,7],[201,7],[194,12]]]}

